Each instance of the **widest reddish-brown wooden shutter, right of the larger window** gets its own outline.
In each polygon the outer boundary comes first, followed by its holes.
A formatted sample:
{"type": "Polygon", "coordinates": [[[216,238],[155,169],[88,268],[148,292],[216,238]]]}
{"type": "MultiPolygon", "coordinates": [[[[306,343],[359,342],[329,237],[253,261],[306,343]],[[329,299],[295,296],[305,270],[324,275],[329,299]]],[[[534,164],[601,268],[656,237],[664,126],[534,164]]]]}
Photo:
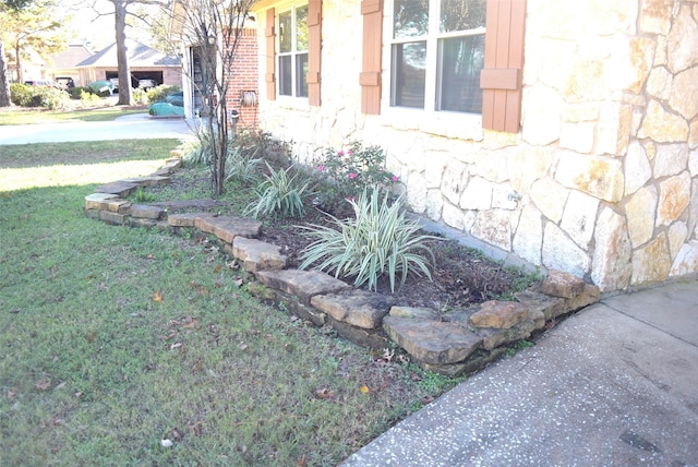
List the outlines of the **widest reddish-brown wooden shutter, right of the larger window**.
{"type": "Polygon", "coordinates": [[[488,0],[482,128],[518,133],[521,117],[526,0],[488,0]]]}

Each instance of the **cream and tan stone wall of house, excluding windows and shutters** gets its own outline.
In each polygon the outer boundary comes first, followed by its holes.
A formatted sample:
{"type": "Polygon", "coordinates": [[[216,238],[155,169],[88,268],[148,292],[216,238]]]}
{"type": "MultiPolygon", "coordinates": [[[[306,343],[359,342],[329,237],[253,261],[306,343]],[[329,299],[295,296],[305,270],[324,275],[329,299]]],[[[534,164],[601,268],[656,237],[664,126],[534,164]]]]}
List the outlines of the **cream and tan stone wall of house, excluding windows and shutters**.
{"type": "Polygon", "coordinates": [[[360,2],[323,9],[323,105],[261,103],[301,160],[380,144],[416,213],[602,291],[698,272],[697,0],[528,0],[518,134],[390,108],[388,48],[363,116],[360,2]]]}

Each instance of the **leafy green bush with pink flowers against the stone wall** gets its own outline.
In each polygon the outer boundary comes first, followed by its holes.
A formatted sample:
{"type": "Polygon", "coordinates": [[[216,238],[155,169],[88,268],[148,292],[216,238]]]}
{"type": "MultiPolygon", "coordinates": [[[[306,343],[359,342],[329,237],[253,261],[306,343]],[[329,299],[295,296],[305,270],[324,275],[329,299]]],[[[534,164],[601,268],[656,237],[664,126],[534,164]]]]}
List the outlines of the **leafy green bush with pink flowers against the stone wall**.
{"type": "Polygon", "coordinates": [[[398,182],[397,176],[385,170],[385,152],[359,142],[352,142],[348,149],[327,149],[317,172],[325,179],[317,202],[330,212],[337,203],[356,199],[365,189],[389,189],[398,182]]]}

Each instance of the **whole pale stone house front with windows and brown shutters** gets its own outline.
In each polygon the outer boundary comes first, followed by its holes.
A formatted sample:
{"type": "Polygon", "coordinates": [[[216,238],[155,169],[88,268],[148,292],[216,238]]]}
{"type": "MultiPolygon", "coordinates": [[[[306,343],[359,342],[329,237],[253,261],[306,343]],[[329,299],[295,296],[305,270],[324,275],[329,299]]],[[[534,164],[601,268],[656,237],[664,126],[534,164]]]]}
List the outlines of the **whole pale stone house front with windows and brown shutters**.
{"type": "Polygon", "coordinates": [[[695,1],[253,10],[258,127],[300,160],[380,145],[413,212],[605,292],[698,272],[695,1]]]}

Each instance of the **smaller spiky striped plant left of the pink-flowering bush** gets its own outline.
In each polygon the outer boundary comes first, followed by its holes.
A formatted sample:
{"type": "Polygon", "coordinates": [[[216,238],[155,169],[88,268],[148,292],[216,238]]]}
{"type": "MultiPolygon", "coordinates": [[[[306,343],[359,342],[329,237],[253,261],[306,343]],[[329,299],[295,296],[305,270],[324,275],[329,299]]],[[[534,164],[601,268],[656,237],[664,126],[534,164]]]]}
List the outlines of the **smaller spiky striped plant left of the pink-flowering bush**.
{"type": "Polygon", "coordinates": [[[311,182],[293,167],[275,170],[266,164],[269,175],[255,190],[257,196],[245,208],[244,215],[301,217],[305,214],[305,200],[313,195],[311,182]]]}

